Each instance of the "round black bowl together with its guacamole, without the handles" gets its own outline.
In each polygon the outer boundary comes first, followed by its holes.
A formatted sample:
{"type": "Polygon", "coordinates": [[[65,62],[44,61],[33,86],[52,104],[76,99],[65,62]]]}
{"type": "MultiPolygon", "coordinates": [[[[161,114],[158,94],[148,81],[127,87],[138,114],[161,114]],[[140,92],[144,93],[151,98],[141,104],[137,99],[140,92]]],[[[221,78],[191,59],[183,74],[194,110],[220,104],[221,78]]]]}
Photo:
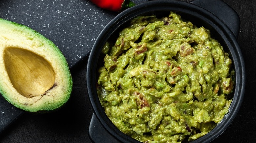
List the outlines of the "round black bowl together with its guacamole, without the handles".
{"type": "Polygon", "coordinates": [[[211,16],[186,2],[150,1],[103,29],[87,87],[97,118],[117,140],[210,142],[231,123],[244,63],[234,32],[211,16]]]}

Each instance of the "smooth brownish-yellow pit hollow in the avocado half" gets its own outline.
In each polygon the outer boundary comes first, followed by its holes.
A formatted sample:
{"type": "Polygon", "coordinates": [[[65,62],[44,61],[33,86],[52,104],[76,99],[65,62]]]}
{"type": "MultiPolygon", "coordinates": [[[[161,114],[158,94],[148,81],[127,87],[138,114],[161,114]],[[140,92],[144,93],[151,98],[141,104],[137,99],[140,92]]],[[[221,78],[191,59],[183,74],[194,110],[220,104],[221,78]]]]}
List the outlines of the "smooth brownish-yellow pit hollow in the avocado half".
{"type": "Polygon", "coordinates": [[[53,87],[53,67],[42,56],[21,48],[7,47],[3,59],[13,87],[24,97],[40,96],[53,87]]]}

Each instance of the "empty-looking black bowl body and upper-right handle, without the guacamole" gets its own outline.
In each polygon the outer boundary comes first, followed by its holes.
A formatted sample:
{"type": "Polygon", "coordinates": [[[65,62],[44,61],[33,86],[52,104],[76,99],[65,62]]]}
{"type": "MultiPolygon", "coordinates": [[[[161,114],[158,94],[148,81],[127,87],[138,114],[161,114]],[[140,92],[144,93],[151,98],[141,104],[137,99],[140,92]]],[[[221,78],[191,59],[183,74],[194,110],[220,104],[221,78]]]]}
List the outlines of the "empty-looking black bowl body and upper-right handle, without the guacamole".
{"type": "Polygon", "coordinates": [[[235,69],[235,86],[233,100],[229,113],[208,134],[193,142],[210,142],[218,137],[235,118],[242,103],[245,90],[245,66],[243,57],[236,41],[240,19],[236,12],[222,0],[194,0],[191,3],[178,0],[148,1],[118,14],[99,34],[88,59],[87,88],[94,113],[104,129],[120,142],[138,142],[118,130],[108,119],[104,108],[99,102],[96,92],[98,66],[102,65],[101,50],[104,43],[115,34],[118,34],[131,19],[140,15],[166,16],[170,11],[181,15],[181,18],[191,21],[197,27],[204,26],[211,31],[211,37],[217,39],[228,52],[235,69]],[[206,10],[207,9],[207,10],[206,10]],[[209,11],[208,11],[209,10],[209,11]],[[211,11],[211,12],[210,12],[211,11]]]}

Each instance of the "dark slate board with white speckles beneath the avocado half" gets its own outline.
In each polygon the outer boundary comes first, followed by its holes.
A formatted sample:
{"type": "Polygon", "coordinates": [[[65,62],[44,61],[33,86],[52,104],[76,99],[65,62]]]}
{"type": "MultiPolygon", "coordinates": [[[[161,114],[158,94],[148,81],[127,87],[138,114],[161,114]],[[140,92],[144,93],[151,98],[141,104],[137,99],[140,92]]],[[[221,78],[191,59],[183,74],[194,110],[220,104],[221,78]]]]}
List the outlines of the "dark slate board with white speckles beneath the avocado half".
{"type": "MultiPolygon", "coordinates": [[[[0,1],[0,18],[26,25],[53,41],[71,69],[89,54],[100,31],[116,15],[88,0],[0,1]]],[[[0,96],[0,133],[22,114],[0,96]]]]}

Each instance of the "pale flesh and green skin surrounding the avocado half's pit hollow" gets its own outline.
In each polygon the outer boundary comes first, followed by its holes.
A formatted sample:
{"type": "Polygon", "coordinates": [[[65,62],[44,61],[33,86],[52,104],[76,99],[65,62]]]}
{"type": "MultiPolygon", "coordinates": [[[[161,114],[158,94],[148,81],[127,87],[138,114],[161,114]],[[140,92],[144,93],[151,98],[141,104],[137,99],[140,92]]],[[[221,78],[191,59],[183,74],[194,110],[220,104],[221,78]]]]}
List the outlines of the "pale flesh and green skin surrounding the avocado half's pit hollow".
{"type": "MultiPolygon", "coordinates": [[[[32,50],[34,53],[37,53],[38,50],[40,52],[37,54],[43,57],[49,56],[51,62],[54,61],[55,65],[58,67],[57,70],[55,69],[55,73],[60,75],[56,77],[57,80],[64,81],[63,85],[58,85],[62,86],[62,88],[57,87],[56,91],[54,90],[52,99],[41,98],[45,101],[35,102],[35,104],[27,104],[20,103],[19,97],[21,95],[17,95],[15,89],[12,89],[13,86],[11,84],[7,84],[8,82],[6,82],[6,80],[8,80],[8,76],[0,75],[0,93],[9,103],[24,111],[36,114],[56,111],[67,103],[70,98],[73,84],[70,69],[63,53],[51,40],[25,25],[0,18],[0,45],[0,52],[3,52],[5,47],[14,46],[18,48],[25,47],[27,50],[32,50]],[[11,37],[12,39],[8,39],[8,37],[11,37]],[[27,43],[28,46],[26,47],[26,44],[24,43],[27,43]],[[37,45],[29,45],[31,43],[36,43],[37,45]],[[20,44],[23,44],[23,46],[19,47],[20,44]],[[30,47],[32,47],[32,49],[30,49],[30,47]],[[44,53],[43,51],[46,52],[44,53]],[[9,89],[12,89],[12,91],[9,89]]],[[[0,53],[0,55],[3,54],[0,53]]],[[[3,64],[3,56],[0,57],[0,63],[3,64]]],[[[5,68],[0,68],[0,72],[5,73],[5,68]]]]}

